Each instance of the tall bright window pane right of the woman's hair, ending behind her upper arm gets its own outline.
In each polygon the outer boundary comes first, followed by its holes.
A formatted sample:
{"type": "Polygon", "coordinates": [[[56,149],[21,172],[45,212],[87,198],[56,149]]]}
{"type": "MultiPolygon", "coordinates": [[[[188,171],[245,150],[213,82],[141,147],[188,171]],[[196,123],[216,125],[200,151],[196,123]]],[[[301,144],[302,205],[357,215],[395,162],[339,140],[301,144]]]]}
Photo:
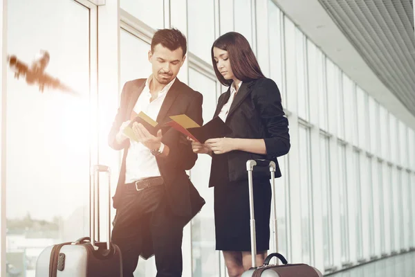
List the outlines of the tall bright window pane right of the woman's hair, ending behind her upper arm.
{"type": "Polygon", "coordinates": [[[272,0],[268,0],[268,26],[269,26],[269,44],[270,44],[270,78],[273,79],[282,92],[283,106],[286,107],[286,89],[282,87],[283,55],[282,43],[284,34],[281,32],[282,24],[281,10],[272,0]]]}

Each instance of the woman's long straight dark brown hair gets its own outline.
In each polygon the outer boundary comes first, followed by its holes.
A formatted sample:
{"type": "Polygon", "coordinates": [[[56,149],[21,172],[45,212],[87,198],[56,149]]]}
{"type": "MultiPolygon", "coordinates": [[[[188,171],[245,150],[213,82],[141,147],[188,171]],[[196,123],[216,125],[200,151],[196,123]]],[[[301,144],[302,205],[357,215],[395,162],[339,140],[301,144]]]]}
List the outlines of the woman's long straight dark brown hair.
{"type": "Polygon", "coordinates": [[[259,78],[265,78],[248,40],[240,33],[229,32],[218,37],[214,41],[210,51],[212,54],[214,73],[216,74],[219,82],[221,82],[224,86],[229,87],[233,80],[226,80],[219,72],[218,67],[216,66],[216,61],[214,60],[214,47],[228,51],[232,72],[238,80],[241,80],[242,82],[249,82],[259,78]]]}

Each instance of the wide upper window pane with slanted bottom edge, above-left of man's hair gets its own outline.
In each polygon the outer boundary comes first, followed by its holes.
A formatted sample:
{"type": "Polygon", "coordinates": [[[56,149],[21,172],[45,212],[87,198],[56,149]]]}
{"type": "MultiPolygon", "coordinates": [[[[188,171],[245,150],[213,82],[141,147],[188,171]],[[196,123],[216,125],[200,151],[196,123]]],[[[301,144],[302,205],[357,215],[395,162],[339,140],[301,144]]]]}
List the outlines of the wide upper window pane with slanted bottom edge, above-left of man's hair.
{"type": "Polygon", "coordinates": [[[153,29],[163,29],[164,26],[163,0],[120,0],[120,8],[153,29]]]}

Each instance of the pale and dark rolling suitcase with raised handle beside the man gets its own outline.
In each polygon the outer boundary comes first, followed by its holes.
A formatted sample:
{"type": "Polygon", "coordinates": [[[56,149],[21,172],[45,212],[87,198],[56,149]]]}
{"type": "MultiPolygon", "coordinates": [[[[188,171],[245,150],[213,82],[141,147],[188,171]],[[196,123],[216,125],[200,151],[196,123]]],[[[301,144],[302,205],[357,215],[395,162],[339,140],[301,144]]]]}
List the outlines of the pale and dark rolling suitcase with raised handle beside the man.
{"type": "MultiPolygon", "coordinates": [[[[108,193],[108,241],[95,242],[95,192],[98,190],[97,173],[107,172],[111,188],[111,172],[107,166],[93,166],[91,175],[91,238],[84,237],[47,247],[36,262],[36,277],[122,277],[120,249],[111,243],[111,191],[108,193]]],[[[99,226],[98,241],[99,241],[99,226]]]]}

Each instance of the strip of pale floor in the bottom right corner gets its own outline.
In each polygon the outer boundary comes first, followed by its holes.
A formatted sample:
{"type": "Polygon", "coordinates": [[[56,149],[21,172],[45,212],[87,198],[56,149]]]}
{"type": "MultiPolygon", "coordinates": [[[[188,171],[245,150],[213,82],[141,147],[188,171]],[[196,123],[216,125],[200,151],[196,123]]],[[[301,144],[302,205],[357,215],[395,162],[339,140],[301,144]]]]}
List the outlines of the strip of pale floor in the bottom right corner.
{"type": "Polygon", "coordinates": [[[348,269],[330,277],[415,277],[415,251],[348,269]]]}

